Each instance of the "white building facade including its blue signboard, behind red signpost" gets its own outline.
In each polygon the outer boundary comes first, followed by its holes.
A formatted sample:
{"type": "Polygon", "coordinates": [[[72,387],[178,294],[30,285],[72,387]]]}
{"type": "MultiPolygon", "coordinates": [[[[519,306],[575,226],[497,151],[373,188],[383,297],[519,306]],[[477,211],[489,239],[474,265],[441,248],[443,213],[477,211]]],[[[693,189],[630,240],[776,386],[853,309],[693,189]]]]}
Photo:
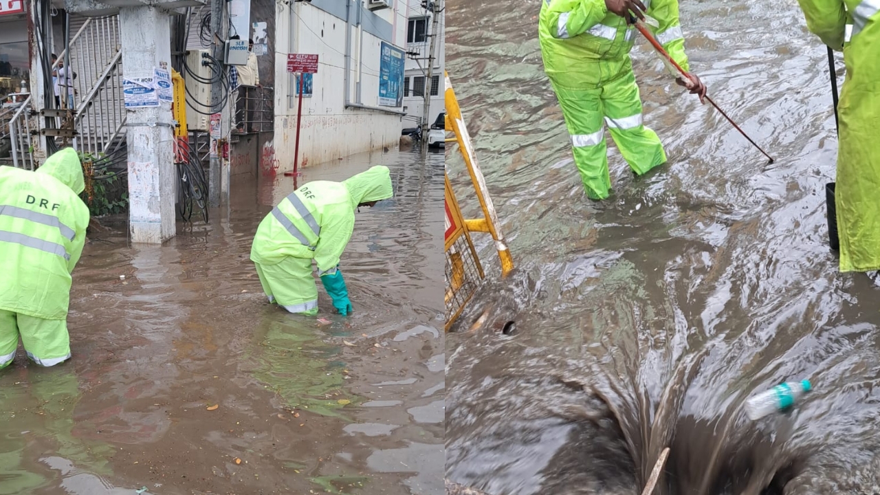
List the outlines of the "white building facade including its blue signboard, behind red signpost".
{"type": "Polygon", "coordinates": [[[275,25],[275,136],[279,172],[292,169],[298,77],[289,54],[319,55],[304,77],[299,163],[314,165],[400,142],[407,36],[402,0],[279,3],[275,25]]]}

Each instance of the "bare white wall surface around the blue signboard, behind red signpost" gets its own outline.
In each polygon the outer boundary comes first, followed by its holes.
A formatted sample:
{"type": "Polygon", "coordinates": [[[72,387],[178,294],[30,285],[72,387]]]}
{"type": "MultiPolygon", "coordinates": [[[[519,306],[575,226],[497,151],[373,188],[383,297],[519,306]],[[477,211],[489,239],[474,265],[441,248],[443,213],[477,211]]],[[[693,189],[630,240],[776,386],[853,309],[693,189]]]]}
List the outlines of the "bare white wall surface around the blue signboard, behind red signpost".
{"type": "MultiPolygon", "coordinates": [[[[275,159],[278,160],[278,173],[293,168],[294,149],[297,138],[297,98],[296,78],[287,72],[287,54],[318,54],[319,69],[313,75],[312,97],[303,99],[302,135],[299,139],[300,166],[310,166],[340,159],[348,155],[381,149],[384,146],[397,146],[400,143],[401,115],[386,113],[375,109],[346,107],[345,101],[345,53],[346,20],[345,2],[333,2],[341,18],[324,11],[316,4],[304,2],[290,3],[290,7],[279,7],[276,16],[276,54],[275,54],[275,159]],[[338,7],[341,4],[342,7],[338,7]],[[341,12],[340,12],[341,9],[341,12]]],[[[351,2],[351,60],[348,78],[348,99],[367,107],[379,107],[379,60],[382,41],[365,29],[359,30],[356,24],[356,8],[363,0],[351,2]],[[358,37],[363,36],[363,47],[358,46],[358,37]],[[363,51],[363,55],[362,54],[363,51]],[[357,79],[360,69],[360,100],[358,99],[357,79]]],[[[386,42],[405,40],[406,23],[395,22],[398,17],[398,4],[392,8],[374,13],[392,26],[391,36],[386,42]]],[[[279,4],[283,5],[283,4],[279,4]]],[[[323,4],[326,5],[326,4],[323,4]]],[[[363,25],[374,18],[364,11],[363,25]]],[[[402,43],[397,47],[403,49],[402,43]]],[[[401,89],[402,91],[402,89],[401,89]]],[[[402,107],[381,107],[392,112],[401,112],[402,107]]],[[[264,150],[264,153],[266,151],[264,150]]]]}

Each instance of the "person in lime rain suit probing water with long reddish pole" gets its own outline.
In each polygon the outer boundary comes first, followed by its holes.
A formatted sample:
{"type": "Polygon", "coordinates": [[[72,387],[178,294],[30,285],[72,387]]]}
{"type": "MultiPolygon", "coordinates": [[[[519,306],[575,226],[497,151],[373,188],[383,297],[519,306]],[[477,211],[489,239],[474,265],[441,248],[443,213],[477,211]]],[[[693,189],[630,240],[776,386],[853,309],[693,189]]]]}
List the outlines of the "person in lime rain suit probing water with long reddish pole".
{"type": "MultiPolygon", "coordinates": [[[[629,58],[639,33],[627,18],[632,14],[644,18],[642,11],[659,22],[659,28],[649,26],[657,41],[682,69],[689,70],[677,0],[541,2],[544,70],[562,108],[583,186],[593,200],[605,199],[611,188],[603,117],[635,174],[666,162],[660,138],[642,123],[642,101],[629,58]]],[[[677,82],[702,100],[706,86],[693,74],[691,78],[677,82]]]]}

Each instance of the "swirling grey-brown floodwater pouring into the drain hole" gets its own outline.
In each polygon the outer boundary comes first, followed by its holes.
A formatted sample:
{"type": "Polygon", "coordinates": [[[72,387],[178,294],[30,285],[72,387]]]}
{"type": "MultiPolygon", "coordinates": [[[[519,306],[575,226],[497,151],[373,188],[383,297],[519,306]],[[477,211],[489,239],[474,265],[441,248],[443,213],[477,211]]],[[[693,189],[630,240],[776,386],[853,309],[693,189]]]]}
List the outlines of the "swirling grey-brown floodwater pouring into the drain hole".
{"type": "Polygon", "coordinates": [[[613,193],[592,203],[542,71],[540,0],[447,2],[447,70],[516,263],[498,281],[476,237],[488,282],[446,343],[451,482],[639,493],[671,447],[656,493],[880,493],[880,287],[838,273],[828,247],[825,47],[793,1],[680,5],[692,70],[775,162],[640,41],[669,162],[635,179],[610,146],[613,193]],[[501,319],[514,335],[492,331],[501,319]],[[814,390],[793,410],[744,416],[753,391],[802,379],[814,390]]]}

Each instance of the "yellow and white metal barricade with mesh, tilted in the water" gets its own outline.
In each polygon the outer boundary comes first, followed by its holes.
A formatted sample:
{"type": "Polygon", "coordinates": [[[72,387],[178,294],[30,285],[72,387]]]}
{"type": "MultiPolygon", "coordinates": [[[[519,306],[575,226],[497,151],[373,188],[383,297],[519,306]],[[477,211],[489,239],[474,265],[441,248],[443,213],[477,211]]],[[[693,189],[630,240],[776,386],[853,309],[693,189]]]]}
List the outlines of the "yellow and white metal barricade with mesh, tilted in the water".
{"type": "Polygon", "coordinates": [[[480,257],[473,247],[471,233],[488,233],[495,240],[495,250],[501,259],[502,277],[513,270],[513,260],[510,250],[501,232],[501,223],[495,213],[495,205],[488,195],[486,180],[480,171],[477,158],[473,153],[471,137],[467,133],[465,119],[458,107],[458,100],[449,80],[449,74],[444,73],[446,91],[446,129],[451,129],[454,138],[447,142],[458,143],[458,151],[465,160],[467,172],[473,182],[473,192],[480,202],[483,218],[466,219],[458,208],[458,200],[449,181],[445,177],[445,200],[446,200],[446,232],[444,234],[444,248],[446,253],[446,329],[449,330],[458,315],[465,309],[468,301],[473,298],[474,292],[480,285],[480,281],[486,277],[480,264],[480,257]]]}

